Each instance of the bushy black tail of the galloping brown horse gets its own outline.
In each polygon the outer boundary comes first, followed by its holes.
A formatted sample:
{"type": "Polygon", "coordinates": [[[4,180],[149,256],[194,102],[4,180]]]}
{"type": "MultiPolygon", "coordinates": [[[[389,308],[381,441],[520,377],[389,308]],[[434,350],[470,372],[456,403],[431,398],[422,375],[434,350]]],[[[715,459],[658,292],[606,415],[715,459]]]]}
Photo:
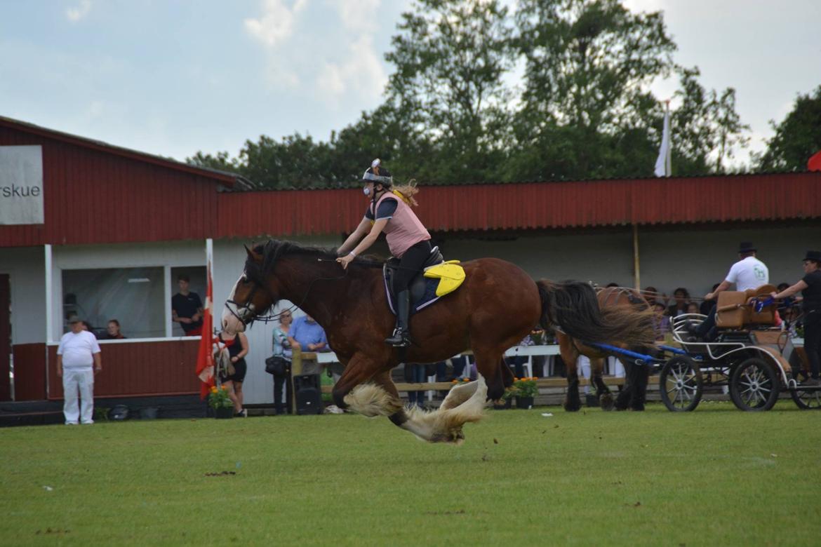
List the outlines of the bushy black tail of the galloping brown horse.
{"type": "Polygon", "coordinates": [[[567,335],[582,342],[652,345],[652,311],[633,307],[599,308],[596,292],[580,281],[537,281],[542,300],[539,324],[547,329],[560,326],[567,335]]]}

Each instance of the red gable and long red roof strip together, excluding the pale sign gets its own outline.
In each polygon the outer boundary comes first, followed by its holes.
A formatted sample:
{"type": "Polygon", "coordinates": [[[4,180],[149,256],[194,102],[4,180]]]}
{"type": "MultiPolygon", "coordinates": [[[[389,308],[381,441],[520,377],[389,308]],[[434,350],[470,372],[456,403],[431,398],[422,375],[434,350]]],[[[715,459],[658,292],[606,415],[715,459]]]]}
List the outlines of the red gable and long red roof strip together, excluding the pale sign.
{"type": "MultiPolygon", "coordinates": [[[[0,146],[43,147],[44,225],[0,226],[0,247],[350,232],[360,189],[222,192],[246,181],[0,117],[0,146]]],[[[544,230],[821,218],[821,171],[422,186],[435,231],[544,230]]]]}

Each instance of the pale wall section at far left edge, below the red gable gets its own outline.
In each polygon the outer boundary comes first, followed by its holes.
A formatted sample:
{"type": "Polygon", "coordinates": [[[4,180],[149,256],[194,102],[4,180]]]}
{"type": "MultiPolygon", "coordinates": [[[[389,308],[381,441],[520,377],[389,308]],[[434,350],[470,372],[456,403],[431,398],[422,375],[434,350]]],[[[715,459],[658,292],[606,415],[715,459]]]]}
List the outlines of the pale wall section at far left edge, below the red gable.
{"type": "Polygon", "coordinates": [[[0,248],[0,273],[11,283],[11,344],[45,342],[44,247],[0,248]]]}

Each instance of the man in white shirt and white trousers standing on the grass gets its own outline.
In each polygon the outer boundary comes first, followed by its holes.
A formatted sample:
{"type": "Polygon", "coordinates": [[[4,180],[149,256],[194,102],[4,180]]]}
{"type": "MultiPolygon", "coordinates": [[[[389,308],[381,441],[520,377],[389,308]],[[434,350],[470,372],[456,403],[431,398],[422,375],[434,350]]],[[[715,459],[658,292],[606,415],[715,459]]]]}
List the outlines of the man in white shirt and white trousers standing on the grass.
{"type": "Polygon", "coordinates": [[[100,347],[97,338],[83,329],[80,317],[68,320],[71,331],[62,335],[57,347],[57,377],[62,377],[65,403],[62,413],[67,426],[76,426],[77,421],[94,423],[94,374],[103,370],[100,347]],[[77,404],[77,390],[80,390],[81,408],[77,404]]]}

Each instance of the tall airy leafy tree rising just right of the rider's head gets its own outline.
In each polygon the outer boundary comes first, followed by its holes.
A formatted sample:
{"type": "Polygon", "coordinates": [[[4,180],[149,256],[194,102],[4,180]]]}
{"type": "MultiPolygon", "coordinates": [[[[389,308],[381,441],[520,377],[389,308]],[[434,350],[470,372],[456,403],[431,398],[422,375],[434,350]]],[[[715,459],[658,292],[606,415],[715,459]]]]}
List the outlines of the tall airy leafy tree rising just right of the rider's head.
{"type": "Polygon", "coordinates": [[[435,153],[416,157],[424,161],[416,171],[443,182],[485,180],[509,125],[502,82],[512,65],[507,7],[498,0],[416,0],[413,7],[385,57],[397,67],[389,103],[402,127],[435,153]]]}

